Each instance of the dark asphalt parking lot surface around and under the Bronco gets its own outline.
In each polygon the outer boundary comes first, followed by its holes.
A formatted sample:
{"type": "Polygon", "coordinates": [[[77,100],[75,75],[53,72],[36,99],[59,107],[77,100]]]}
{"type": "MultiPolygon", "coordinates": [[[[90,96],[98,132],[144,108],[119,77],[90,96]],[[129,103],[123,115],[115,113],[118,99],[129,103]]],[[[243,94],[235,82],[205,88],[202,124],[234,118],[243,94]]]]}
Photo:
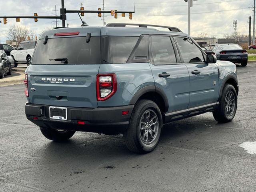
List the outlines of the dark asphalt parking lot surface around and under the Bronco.
{"type": "Polygon", "coordinates": [[[237,71],[232,122],[211,113],[173,122],[144,155],[129,152],[122,136],[77,132],[51,142],[26,119],[24,85],[0,87],[0,191],[254,192],[256,154],[239,145],[256,142],[256,64],[237,71]]]}

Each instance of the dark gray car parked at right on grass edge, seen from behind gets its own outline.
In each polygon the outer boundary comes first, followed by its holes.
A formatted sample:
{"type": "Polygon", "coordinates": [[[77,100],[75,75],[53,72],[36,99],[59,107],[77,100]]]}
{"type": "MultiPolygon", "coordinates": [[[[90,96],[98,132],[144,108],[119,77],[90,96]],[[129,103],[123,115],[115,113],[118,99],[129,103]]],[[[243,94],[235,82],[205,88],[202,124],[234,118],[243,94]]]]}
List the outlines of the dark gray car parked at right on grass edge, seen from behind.
{"type": "Polygon", "coordinates": [[[238,44],[218,44],[212,49],[212,51],[215,52],[217,60],[240,63],[242,66],[247,65],[247,50],[244,50],[238,44]]]}

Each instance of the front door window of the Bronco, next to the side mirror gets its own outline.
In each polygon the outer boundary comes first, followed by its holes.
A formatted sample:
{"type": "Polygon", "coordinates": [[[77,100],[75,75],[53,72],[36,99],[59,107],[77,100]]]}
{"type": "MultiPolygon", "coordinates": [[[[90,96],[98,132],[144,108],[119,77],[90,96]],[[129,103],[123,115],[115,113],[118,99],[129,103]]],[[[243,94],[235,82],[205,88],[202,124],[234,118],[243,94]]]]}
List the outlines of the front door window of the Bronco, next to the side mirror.
{"type": "Polygon", "coordinates": [[[184,63],[204,62],[202,51],[188,38],[176,37],[184,63]]]}

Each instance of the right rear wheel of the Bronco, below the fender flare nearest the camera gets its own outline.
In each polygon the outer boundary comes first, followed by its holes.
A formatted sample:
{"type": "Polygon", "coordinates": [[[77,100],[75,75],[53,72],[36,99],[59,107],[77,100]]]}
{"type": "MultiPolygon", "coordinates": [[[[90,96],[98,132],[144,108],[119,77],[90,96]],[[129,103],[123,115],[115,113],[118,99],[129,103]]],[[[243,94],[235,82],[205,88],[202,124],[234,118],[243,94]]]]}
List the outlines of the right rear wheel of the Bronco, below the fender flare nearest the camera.
{"type": "Polygon", "coordinates": [[[158,145],[162,126],[162,114],[157,104],[151,100],[138,100],[134,106],[129,127],[124,132],[127,148],[136,153],[151,152],[158,145]],[[149,117],[147,118],[148,113],[149,117]],[[150,117],[152,117],[151,121],[150,117]],[[153,124],[150,125],[150,122],[153,122],[153,124]]]}

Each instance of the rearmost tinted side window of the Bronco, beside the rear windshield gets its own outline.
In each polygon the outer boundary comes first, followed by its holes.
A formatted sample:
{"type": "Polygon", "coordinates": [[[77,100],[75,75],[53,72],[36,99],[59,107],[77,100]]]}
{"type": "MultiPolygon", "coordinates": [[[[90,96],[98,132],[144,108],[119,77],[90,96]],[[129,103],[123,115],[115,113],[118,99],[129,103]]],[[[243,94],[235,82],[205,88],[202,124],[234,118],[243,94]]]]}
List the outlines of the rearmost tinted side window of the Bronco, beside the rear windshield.
{"type": "Polygon", "coordinates": [[[138,37],[112,36],[112,62],[126,63],[138,37]]]}

